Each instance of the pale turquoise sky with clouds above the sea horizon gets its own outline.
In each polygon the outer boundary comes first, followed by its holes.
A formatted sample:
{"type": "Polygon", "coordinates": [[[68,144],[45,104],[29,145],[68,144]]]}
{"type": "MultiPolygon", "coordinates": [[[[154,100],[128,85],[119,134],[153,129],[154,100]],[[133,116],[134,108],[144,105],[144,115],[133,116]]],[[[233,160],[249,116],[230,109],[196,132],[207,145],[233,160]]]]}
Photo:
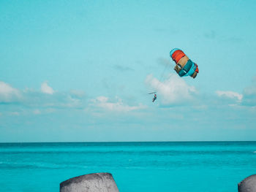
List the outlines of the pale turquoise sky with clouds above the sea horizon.
{"type": "Polygon", "coordinates": [[[0,142],[255,140],[255,9],[0,1],[0,142]],[[173,70],[176,47],[195,79],[173,70]]]}

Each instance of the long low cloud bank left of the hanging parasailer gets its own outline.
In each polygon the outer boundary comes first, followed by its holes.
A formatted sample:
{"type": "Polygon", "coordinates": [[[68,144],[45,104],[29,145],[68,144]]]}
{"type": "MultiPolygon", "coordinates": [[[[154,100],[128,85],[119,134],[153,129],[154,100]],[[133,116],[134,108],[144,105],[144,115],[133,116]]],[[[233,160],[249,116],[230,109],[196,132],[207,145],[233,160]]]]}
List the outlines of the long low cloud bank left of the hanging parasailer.
{"type": "Polygon", "coordinates": [[[97,96],[89,99],[83,91],[72,90],[68,92],[53,91],[47,82],[43,82],[39,91],[26,88],[18,90],[12,88],[5,82],[0,82],[0,112],[17,115],[13,111],[20,111],[21,115],[25,111],[30,111],[34,115],[41,115],[43,112],[56,112],[56,110],[85,110],[87,112],[131,112],[145,109],[143,104],[133,106],[126,104],[121,98],[108,98],[97,96]],[[7,103],[8,106],[1,104],[7,103]],[[3,107],[4,106],[4,107],[3,107]]]}

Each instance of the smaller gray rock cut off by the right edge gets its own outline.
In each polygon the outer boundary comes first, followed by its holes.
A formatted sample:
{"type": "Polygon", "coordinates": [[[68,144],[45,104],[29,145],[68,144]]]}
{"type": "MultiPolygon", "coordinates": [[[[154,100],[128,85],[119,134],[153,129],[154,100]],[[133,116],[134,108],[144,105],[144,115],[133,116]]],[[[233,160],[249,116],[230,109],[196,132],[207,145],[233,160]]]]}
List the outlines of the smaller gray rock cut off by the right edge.
{"type": "Polygon", "coordinates": [[[252,174],[238,183],[238,192],[256,192],[256,174],[252,174]]]}

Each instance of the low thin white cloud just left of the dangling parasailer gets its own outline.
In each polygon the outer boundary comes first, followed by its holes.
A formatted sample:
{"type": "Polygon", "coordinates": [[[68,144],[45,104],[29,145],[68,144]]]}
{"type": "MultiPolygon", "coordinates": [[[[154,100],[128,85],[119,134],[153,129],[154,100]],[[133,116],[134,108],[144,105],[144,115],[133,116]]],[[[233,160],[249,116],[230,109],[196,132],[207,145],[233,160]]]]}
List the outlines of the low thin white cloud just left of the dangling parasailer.
{"type": "Polygon", "coordinates": [[[138,106],[129,106],[124,104],[123,101],[118,97],[116,97],[116,101],[109,101],[108,97],[98,96],[96,99],[92,99],[91,101],[95,107],[116,112],[129,112],[132,110],[140,110],[145,108],[145,106],[142,104],[139,104],[138,106]]]}

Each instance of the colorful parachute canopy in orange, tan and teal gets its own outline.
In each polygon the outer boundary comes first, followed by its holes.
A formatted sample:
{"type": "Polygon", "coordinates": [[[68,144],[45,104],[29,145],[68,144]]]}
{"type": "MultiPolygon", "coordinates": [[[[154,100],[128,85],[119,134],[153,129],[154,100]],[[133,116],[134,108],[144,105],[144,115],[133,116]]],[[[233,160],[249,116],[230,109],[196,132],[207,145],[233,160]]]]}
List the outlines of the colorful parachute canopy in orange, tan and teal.
{"type": "Polygon", "coordinates": [[[174,70],[180,77],[188,75],[193,78],[197,77],[197,73],[199,72],[197,64],[191,61],[182,50],[177,48],[171,50],[170,58],[175,61],[176,66],[174,67],[174,70]]]}

